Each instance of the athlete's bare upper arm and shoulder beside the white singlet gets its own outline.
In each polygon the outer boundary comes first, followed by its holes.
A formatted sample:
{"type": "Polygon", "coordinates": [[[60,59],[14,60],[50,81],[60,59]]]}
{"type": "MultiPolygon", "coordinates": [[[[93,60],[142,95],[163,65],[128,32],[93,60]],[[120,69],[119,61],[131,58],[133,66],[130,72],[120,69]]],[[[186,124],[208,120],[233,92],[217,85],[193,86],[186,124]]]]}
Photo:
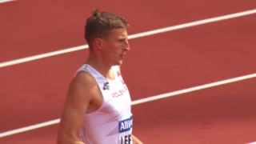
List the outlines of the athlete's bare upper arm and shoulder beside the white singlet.
{"type": "Polygon", "coordinates": [[[97,88],[94,79],[86,72],[78,73],[70,82],[58,131],[58,144],[83,144],[78,138],[78,131],[97,88]]]}

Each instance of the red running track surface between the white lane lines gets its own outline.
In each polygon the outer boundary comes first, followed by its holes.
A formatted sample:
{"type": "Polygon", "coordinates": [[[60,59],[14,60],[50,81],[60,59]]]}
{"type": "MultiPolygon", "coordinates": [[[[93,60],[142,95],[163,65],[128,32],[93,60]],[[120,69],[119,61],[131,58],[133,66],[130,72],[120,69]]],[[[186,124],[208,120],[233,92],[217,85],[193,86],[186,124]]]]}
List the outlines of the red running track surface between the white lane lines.
{"type": "MultiPolygon", "coordinates": [[[[135,34],[255,6],[249,0],[230,3],[21,0],[0,4],[0,62],[83,45],[82,26],[94,6],[124,15],[130,21],[130,34],[135,34]]],[[[131,40],[122,74],[132,99],[255,73],[255,23],[254,14],[131,40]]],[[[0,132],[59,118],[66,88],[86,56],[82,50],[2,68],[0,132]]],[[[134,134],[145,143],[256,141],[255,84],[253,78],[133,106],[134,134]]],[[[57,128],[11,135],[0,143],[54,143],[57,128]]]]}

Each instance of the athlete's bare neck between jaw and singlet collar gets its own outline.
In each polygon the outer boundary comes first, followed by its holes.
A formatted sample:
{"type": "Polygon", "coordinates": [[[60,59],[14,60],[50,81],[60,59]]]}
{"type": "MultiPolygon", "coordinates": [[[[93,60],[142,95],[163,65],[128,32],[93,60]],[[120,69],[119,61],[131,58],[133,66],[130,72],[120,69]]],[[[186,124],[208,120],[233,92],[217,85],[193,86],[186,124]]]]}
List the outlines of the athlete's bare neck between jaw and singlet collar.
{"type": "Polygon", "coordinates": [[[113,74],[113,71],[111,70],[111,66],[108,65],[107,63],[104,63],[102,58],[97,57],[96,55],[90,54],[89,58],[86,61],[86,64],[92,66],[105,78],[114,80],[114,74],[113,74]]]}

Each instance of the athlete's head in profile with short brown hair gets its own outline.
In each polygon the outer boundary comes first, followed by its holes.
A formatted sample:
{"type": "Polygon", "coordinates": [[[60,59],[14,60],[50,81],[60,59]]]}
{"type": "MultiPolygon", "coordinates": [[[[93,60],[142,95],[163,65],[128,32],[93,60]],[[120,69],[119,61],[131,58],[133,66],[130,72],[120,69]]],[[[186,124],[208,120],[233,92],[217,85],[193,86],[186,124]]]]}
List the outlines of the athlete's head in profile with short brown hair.
{"type": "Polygon", "coordinates": [[[125,18],[115,14],[94,10],[86,20],[85,38],[90,51],[97,51],[110,65],[120,65],[127,50],[128,42],[125,18]]]}

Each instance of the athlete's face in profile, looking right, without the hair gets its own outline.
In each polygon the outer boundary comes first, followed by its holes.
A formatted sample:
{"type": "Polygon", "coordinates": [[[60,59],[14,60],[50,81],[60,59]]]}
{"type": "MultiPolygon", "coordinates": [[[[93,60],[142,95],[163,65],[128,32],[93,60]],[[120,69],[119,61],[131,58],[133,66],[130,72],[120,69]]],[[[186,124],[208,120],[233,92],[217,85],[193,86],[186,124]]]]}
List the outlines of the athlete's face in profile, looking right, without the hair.
{"type": "Polygon", "coordinates": [[[109,37],[103,41],[102,53],[110,65],[121,65],[122,59],[129,50],[130,46],[125,28],[112,30],[109,37]]]}

